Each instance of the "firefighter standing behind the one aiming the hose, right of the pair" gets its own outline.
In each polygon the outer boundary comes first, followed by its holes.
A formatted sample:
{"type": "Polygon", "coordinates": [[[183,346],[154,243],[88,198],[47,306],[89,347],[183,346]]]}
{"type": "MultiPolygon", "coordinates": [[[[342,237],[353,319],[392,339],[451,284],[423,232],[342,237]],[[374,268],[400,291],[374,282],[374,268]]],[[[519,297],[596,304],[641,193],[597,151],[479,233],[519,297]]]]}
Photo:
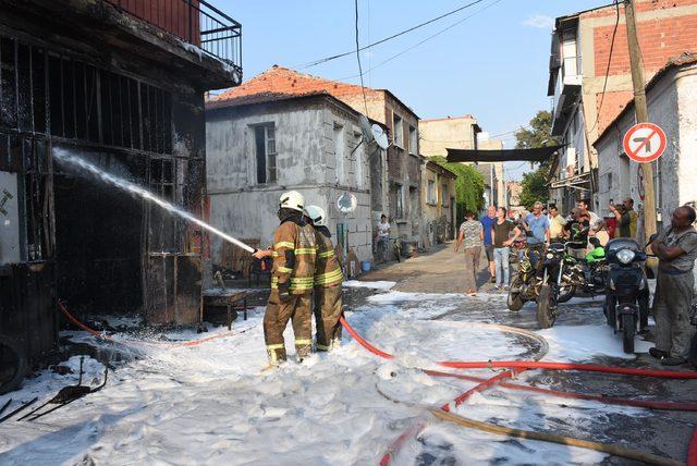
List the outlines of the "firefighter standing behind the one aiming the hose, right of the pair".
{"type": "Polygon", "coordinates": [[[315,268],[315,347],[326,352],[341,344],[342,286],[344,277],[334,254],[331,233],[327,228],[325,209],[317,206],[305,208],[307,221],[317,236],[317,263],[315,268]]]}

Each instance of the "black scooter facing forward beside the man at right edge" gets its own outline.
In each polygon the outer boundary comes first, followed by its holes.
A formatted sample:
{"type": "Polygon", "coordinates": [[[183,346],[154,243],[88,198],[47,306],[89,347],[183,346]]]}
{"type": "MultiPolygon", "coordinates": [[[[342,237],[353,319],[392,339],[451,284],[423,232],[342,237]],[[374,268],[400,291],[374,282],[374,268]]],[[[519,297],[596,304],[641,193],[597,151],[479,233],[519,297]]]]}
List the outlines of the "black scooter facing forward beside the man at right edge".
{"type": "Polygon", "coordinates": [[[637,242],[625,237],[611,240],[606,253],[604,315],[614,332],[622,332],[623,351],[634,353],[634,335],[649,319],[649,285],[644,271],[647,255],[637,242]]]}

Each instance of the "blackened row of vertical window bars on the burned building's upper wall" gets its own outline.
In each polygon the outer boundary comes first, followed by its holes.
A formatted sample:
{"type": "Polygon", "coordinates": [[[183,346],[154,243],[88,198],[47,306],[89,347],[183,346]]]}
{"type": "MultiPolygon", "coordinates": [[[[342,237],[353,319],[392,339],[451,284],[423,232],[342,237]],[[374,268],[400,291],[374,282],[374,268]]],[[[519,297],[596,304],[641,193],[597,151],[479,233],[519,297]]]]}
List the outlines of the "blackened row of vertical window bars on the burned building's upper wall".
{"type": "Polygon", "coordinates": [[[172,152],[172,96],[0,37],[0,128],[172,152]]]}

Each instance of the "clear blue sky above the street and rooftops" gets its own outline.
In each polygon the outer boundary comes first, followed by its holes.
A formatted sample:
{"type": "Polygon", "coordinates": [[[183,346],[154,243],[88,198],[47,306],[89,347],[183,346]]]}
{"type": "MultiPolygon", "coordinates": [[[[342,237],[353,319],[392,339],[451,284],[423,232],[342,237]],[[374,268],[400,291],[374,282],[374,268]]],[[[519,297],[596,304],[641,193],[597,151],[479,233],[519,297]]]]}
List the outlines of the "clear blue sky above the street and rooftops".
{"type": "MultiPolygon", "coordinates": [[[[359,42],[377,41],[472,1],[358,0],[359,42]]],[[[213,3],[242,23],[245,81],[279,64],[360,84],[355,54],[303,68],[355,50],[354,0],[213,3]]],[[[363,51],[364,82],[390,89],[421,119],[470,113],[485,132],[500,135],[504,147],[512,148],[513,132],[538,110],[551,108],[547,82],[554,17],[608,3],[484,0],[363,51]]],[[[519,179],[529,169],[525,162],[506,163],[506,179],[519,179]]]]}

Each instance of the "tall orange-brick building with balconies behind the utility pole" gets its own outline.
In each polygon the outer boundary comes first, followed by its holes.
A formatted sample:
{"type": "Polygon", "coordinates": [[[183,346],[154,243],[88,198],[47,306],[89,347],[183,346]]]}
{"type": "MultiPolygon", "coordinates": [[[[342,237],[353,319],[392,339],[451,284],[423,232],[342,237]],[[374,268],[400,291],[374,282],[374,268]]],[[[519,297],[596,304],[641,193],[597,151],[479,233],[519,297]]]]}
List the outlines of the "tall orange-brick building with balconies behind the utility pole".
{"type": "MultiPolygon", "coordinates": [[[[697,0],[636,0],[637,30],[649,81],[671,57],[697,50],[697,0]]],[[[624,7],[601,7],[558,17],[552,35],[548,95],[553,96],[552,134],[567,146],[552,179],[550,200],[565,211],[578,197],[598,204],[598,160],[592,148],[633,97],[624,7]],[[606,70],[615,21],[619,26],[606,70]],[[602,101],[602,107],[600,107],[602,101]],[[600,109],[600,112],[598,110],[600,109]]]]}

